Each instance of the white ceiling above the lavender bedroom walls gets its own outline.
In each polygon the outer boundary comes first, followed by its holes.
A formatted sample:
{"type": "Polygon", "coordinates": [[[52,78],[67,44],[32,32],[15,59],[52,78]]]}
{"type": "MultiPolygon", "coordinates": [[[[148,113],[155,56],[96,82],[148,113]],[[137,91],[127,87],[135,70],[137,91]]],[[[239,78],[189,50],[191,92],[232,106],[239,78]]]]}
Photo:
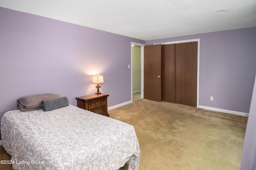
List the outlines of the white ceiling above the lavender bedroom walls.
{"type": "Polygon", "coordinates": [[[0,0],[0,7],[142,40],[256,27],[256,0],[0,0]]]}

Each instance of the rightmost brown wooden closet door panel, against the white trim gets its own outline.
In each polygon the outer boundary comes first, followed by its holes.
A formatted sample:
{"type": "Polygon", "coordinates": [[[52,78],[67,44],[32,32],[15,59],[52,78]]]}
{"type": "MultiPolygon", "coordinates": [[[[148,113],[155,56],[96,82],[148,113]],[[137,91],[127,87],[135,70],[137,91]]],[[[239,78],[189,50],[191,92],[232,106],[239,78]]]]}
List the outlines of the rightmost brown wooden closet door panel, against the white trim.
{"type": "Polygon", "coordinates": [[[175,45],[175,103],[196,107],[197,42],[175,45]]]}

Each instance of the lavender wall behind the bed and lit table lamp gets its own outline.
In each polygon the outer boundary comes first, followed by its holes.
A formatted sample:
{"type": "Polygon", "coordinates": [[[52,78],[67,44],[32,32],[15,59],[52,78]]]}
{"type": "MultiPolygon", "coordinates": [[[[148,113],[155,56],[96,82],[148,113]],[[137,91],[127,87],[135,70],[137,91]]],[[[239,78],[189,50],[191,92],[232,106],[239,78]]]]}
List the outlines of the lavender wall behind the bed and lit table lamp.
{"type": "Polygon", "coordinates": [[[0,117],[22,96],[57,93],[75,98],[96,92],[104,75],[108,106],[131,100],[131,41],[145,41],[0,8],[0,117]]]}

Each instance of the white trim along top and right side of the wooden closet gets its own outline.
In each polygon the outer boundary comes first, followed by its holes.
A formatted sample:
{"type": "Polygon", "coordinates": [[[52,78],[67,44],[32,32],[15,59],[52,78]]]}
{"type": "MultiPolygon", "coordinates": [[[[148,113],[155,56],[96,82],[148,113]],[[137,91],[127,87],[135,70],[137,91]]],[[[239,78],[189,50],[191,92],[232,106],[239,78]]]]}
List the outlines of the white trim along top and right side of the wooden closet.
{"type": "Polygon", "coordinates": [[[181,41],[170,41],[170,42],[163,42],[163,43],[154,43],[153,45],[168,45],[168,44],[179,44],[179,43],[191,43],[197,42],[197,83],[196,83],[196,107],[199,107],[199,67],[200,67],[200,38],[198,39],[186,39],[181,41]]]}

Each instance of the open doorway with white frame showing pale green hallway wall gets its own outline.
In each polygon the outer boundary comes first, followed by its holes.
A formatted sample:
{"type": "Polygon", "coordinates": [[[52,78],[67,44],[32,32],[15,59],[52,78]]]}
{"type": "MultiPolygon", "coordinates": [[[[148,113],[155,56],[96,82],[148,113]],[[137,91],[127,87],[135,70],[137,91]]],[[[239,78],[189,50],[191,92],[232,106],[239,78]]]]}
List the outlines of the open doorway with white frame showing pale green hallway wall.
{"type": "Polygon", "coordinates": [[[144,44],[131,43],[132,102],[144,98],[144,44]]]}

